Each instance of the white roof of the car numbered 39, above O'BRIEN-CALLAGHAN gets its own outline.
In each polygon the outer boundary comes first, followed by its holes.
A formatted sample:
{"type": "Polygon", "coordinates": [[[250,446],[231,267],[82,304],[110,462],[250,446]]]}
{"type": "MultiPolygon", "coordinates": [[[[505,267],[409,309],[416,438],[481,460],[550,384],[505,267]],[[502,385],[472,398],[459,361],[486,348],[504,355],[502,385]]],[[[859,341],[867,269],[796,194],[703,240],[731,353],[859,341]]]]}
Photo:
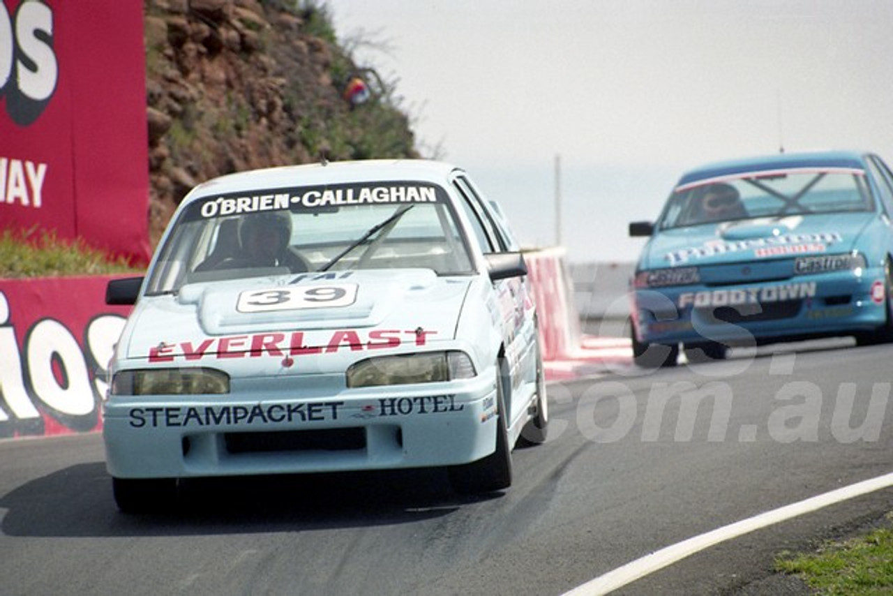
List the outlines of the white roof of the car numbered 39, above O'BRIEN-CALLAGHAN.
{"type": "Polygon", "coordinates": [[[199,184],[189,194],[192,196],[206,196],[208,193],[316,186],[372,180],[442,182],[447,179],[451,172],[456,170],[458,168],[453,164],[427,159],[370,159],[285,165],[219,176],[199,184]]]}

